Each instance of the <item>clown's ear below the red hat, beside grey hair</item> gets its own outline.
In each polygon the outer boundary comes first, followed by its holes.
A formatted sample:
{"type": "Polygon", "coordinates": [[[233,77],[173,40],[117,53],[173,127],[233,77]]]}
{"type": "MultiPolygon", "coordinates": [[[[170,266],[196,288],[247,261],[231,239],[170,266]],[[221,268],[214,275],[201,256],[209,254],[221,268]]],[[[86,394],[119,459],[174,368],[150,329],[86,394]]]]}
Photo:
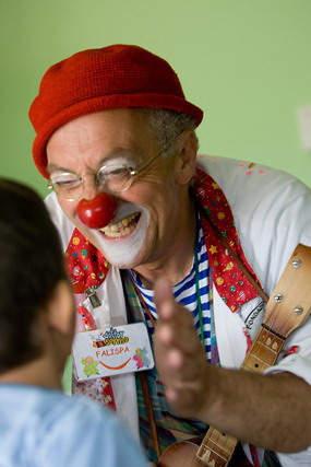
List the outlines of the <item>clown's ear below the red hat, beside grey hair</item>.
{"type": "Polygon", "coordinates": [[[194,130],[183,131],[177,142],[176,180],[188,185],[195,174],[198,138],[194,130]]]}

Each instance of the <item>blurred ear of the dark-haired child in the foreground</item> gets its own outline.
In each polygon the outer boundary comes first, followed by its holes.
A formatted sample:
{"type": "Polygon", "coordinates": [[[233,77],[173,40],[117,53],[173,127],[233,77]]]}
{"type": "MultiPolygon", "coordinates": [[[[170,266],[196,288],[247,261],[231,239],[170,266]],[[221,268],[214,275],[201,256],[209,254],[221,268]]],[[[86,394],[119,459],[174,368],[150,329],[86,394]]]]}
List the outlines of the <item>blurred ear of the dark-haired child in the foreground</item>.
{"type": "Polygon", "coordinates": [[[72,335],[74,330],[74,301],[71,285],[68,280],[60,280],[47,305],[47,320],[49,326],[63,335],[72,335]]]}

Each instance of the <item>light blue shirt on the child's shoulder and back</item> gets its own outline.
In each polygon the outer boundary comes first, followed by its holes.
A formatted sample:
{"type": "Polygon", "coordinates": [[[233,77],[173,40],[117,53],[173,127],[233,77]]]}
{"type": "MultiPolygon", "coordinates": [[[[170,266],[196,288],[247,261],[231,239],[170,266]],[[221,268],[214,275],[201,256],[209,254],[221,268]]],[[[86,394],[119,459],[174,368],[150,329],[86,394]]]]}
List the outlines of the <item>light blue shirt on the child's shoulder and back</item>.
{"type": "Polygon", "coordinates": [[[8,466],[33,465],[34,453],[38,466],[85,467],[99,457],[99,465],[125,465],[116,440],[130,453],[129,466],[145,467],[134,440],[112,410],[60,390],[0,384],[0,452],[5,452],[8,466]]]}

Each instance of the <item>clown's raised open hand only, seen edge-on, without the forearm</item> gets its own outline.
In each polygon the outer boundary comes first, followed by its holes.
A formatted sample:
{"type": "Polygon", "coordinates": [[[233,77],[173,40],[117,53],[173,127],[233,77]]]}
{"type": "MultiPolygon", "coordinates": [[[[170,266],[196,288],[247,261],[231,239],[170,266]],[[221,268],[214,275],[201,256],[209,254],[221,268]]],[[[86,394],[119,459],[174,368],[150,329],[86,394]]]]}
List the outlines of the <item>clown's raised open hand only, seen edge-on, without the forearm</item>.
{"type": "MultiPolygon", "coordinates": [[[[176,303],[168,280],[157,281],[154,300],[159,316],[154,338],[155,359],[166,385],[166,397],[182,417],[200,418],[213,369],[206,362],[192,315],[176,303]]],[[[211,381],[211,387],[210,384],[211,381]]]]}

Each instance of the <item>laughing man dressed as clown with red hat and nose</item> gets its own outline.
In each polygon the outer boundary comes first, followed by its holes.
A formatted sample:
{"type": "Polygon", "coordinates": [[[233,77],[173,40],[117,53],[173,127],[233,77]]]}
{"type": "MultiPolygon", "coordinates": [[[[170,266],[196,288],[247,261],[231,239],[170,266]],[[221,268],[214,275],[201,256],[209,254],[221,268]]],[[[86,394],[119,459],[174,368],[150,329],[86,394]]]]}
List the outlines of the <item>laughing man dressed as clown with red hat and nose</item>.
{"type": "Polygon", "coordinates": [[[196,159],[203,112],[171,67],[137,46],[56,63],[29,117],[69,268],[84,272],[72,273],[81,306],[98,328],[143,319],[151,339],[163,316],[160,374],[146,372],[159,446],[140,380],[111,378],[117,411],[149,457],[207,423],[243,440],[255,465],[310,464],[310,319],[286,343],[299,351],[265,375],[237,370],[264,319],[262,288],[271,294],[296,245],[311,245],[310,190],[258,164],[196,159]],[[91,287],[96,306],[83,296],[91,287]],[[176,318],[165,319],[166,307],[176,318]]]}

